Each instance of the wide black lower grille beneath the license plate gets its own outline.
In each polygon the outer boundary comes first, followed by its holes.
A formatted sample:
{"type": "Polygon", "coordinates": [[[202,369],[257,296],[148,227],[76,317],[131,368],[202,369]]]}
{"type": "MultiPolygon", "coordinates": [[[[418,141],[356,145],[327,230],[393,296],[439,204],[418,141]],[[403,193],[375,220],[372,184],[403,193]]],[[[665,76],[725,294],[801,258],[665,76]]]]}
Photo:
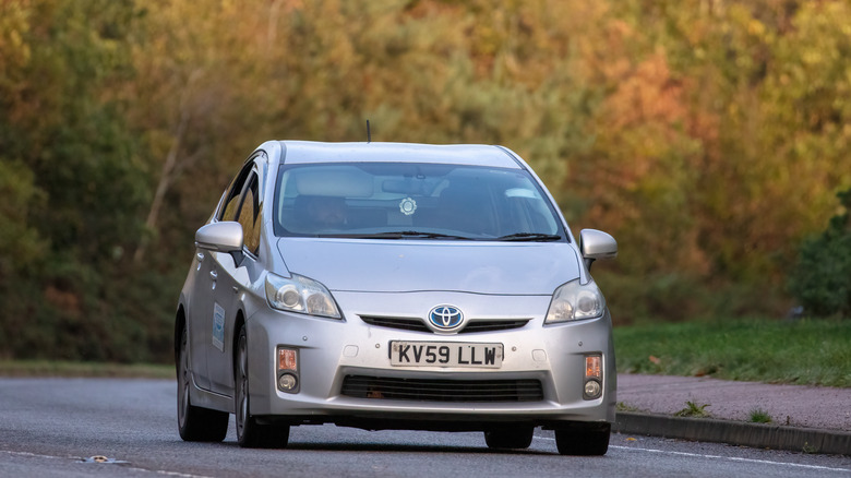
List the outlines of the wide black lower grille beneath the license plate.
{"type": "Polygon", "coordinates": [[[538,380],[422,380],[346,375],[343,395],[420,402],[539,402],[538,380]]]}

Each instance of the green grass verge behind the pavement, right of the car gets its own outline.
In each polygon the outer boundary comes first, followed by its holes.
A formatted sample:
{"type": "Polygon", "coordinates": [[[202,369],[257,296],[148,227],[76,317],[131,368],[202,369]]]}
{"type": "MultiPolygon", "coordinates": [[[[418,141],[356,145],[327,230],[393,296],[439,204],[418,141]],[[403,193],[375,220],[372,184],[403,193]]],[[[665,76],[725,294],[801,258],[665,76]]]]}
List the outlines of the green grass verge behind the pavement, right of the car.
{"type": "Polygon", "coordinates": [[[618,371],[851,386],[851,321],[731,319],[614,330],[618,371]]]}

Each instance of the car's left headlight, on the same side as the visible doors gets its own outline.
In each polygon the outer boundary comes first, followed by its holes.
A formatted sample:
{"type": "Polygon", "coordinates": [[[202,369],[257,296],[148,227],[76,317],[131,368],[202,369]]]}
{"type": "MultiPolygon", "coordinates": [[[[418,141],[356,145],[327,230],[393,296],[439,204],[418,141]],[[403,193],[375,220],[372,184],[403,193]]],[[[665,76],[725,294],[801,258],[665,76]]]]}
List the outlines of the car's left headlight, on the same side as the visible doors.
{"type": "Polygon", "coordinates": [[[275,309],[340,319],[337,304],[322,284],[292,274],[291,278],[266,275],[266,299],[275,309]]]}

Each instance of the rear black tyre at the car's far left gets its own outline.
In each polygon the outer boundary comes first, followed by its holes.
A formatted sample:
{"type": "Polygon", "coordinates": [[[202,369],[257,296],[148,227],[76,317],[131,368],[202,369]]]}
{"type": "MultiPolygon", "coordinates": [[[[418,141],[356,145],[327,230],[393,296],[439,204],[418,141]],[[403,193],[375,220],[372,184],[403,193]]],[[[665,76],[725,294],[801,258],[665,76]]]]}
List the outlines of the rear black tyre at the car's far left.
{"type": "Polygon", "coordinates": [[[227,411],[211,410],[192,405],[189,390],[192,380],[189,371],[189,337],[187,327],[180,334],[178,352],[178,430],[188,442],[220,442],[228,433],[227,411]]]}

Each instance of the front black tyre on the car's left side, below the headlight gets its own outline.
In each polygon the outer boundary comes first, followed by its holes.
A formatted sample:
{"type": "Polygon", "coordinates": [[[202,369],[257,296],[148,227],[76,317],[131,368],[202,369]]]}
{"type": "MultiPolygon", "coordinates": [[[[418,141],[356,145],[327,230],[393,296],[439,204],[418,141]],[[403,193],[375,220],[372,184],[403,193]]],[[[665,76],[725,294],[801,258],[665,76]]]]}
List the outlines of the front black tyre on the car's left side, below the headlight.
{"type": "Polygon", "coordinates": [[[261,425],[251,416],[251,396],[249,395],[248,335],[245,326],[239,330],[237,355],[235,357],[233,394],[237,415],[237,442],[243,449],[284,449],[289,441],[288,425],[261,425]]]}

